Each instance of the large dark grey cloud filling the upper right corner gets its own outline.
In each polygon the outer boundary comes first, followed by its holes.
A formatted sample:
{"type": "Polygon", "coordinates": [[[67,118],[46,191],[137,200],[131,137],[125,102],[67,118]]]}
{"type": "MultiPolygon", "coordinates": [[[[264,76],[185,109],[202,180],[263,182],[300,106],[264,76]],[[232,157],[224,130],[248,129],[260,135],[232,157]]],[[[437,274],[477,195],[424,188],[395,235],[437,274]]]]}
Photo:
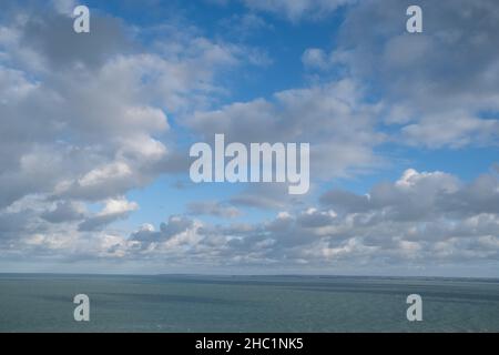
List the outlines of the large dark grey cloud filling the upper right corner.
{"type": "MultiPolygon", "coordinates": [[[[424,32],[405,31],[409,1],[363,1],[350,8],[330,52],[310,49],[306,63],[343,68],[376,83],[385,122],[399,144],[430,149],[496,145],[499,111],[499,13],[493,0],[419,1],[424,32]],[[480,19],[480,20],[477,20],[480,19]],[[397,129],[399,131],[397,132],[397,129]]],[[[310,65],[308,65],[310,68],[310,65]]]]}

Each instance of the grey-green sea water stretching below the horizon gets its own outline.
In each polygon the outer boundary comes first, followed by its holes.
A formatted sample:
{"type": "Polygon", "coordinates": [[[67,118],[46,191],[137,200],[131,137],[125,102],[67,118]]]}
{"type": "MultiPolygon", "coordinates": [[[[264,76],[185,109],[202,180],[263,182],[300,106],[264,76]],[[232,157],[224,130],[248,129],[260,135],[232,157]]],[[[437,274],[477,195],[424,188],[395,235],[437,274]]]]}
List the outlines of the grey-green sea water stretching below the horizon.
{"type": "Polygon", "coordinates": [[[0,275],[0,332],[498,331],[497,280],[0,275]],[[73,320],[81,293],[90,322],[73,320]]]}

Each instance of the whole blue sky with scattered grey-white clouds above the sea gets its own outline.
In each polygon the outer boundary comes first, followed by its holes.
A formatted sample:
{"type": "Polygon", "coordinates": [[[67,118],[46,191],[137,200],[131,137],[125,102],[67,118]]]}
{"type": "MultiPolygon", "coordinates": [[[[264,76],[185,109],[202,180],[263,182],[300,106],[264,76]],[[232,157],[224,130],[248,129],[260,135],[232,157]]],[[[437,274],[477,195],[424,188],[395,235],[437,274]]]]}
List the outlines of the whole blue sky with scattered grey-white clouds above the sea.
{"type": "Polygon", "coordinates": [[[499,277],[498,44],[496,0],[3,0],[0,272],[499,277]],[[215,134],[309,191],[193,183],[215,134]]]}

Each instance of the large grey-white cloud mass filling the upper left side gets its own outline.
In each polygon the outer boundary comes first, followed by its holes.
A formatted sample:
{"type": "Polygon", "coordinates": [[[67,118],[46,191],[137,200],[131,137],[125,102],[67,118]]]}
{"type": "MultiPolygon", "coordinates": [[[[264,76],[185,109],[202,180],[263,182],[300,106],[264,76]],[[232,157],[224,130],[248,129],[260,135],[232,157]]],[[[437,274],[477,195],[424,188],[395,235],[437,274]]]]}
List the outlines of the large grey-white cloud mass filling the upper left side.
{"type": "Polygon", "coordinates": [[[173,26],[132,33],[99,13],[99,36],[78,36],[68,16],[32,7],[12,6],[0,27],[0,207],[30,194],[116,199],[177,171],[166,112],[208,105],[220,70],[253,53],[173,26]]]}

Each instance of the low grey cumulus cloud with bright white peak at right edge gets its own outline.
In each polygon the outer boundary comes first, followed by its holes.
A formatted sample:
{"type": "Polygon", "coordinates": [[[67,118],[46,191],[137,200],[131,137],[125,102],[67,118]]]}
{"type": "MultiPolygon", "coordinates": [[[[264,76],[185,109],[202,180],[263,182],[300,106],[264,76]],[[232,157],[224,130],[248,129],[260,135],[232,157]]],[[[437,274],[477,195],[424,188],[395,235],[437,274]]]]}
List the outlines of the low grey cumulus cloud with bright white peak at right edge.
{"type": "Polygon", "coordinates": [[[499,213],[499,181],[483,174],[465,184],[442,172],[418,173],[409,169],[395,184],[378,183],[367,195],[330,191],[320,197],[324,205],[345,213],[376,212],[370,219],[426,221],[452,220],[499,213]]]}

